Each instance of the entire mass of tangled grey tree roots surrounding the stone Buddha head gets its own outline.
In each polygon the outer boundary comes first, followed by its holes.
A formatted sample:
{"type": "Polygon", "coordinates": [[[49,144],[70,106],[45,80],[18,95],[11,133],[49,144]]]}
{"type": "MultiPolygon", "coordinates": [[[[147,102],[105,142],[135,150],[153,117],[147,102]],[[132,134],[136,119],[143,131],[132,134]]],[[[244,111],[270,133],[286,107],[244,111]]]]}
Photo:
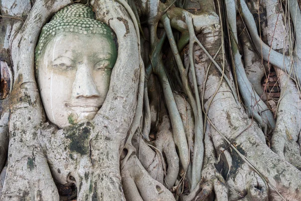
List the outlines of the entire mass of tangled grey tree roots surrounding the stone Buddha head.
{"type": "Polygon", "coordinates": [[[0,200],[301,200],[299,5],[0,0],[0,200]],[[59,129],[35,48],[71,4],[118,56],[95,118],[59,129]]]}

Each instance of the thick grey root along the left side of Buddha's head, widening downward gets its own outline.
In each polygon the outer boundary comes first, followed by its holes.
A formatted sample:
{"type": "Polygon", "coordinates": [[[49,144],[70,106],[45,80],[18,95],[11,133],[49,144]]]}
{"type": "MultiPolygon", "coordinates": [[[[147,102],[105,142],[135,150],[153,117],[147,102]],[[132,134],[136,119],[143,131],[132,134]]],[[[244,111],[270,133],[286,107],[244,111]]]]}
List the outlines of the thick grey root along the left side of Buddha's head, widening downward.
{"type": "Polygon", "coordinates": [[[54,12],[71,1],[36,1],[24,26],[12,42],[14,88],[10,117],[9,158],[1,200],[23,198],[58,200],[47,160],[36,142],[35,127],[45,121],[34,76],[34,50],[41,27],[54,12]],[[23,101],[20,101],[23,100],[23,101]],[[38,164],[38,165],[37,165],[38,164]]]}

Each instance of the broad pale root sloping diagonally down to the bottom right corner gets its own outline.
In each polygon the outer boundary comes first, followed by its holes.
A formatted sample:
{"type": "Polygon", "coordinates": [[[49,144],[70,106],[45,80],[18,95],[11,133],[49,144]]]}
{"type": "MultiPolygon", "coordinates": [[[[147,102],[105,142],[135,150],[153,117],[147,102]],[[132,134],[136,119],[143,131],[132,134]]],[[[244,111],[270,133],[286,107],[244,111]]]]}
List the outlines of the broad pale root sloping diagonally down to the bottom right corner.
{"type": "MultiPolygon", "coordinates": [[[[217,80],[215,76],[209,77],[205,98],[212,98],[212,94],[218,87],[217,80]]],[[[228,92],[225,91],[229,91],[227,86],[223,84],[218,90],[223,92],[216,94],[211,105],[215,110],[210,110],[208,113],[212,124],[230,140],[230,143],[237,147],[241,154],[246,156],[248,160],[254,164],[252,168],[256,168],[254,171],[260,173],[260,177],[264,175],[262,178],[263,181],[268,181],[269,184],[272,184],[272,186],[269,186],[269,195],[272,194],[276,197],[276,193],[281,193],[282,196],[288,200],[299,199],[299,194],[293,193],[293,191],[301,186],[300,181],[296,179],[296,177],[299,178],[301,176],[301,173],[290,166],[286,161],[281,160],[265,145],[265,140],[262,138],[263,134],[258,130],[256,124],[252,123],[251,120],[245,116],[245,113],[243,113],[239,107],[235,106],[235,100],[232,95],[226,95],[228,92]],[[228,101],[225,102],[225,99],[228,101]],[[220,125],[220,121],[223,121],[224,124],[220,125]],[[291,182],[294,184],[290,184],[291,182]]],[[[205,103],[205,109],[207,107],[208,103],[205,103]]],[[[216,133],[216,129],[211,128],[210,131],[214,147],[219,157],[223,158],[222,155],[224,154],[219,154],[222,153],[220,147],[225,149],[227,145],[224,144],[220,134],[216,133]]],[[[224,153],[226,152],[224,151],[224,153]]],[[[224,165],[222,167],[225,169],[227,167],[229,168],[229,170],[226,171],[228,173],[225,173],[224,176],[231,189],[229,191],[230,197],[235,197],[236,193],[244,196],[241,192],[245,190],[245,192],[247,192],[250,185],[244,182],[244,180],[247,181],[246,177],[240,177],[238,172],[243,171],[241,172],[242,175],[247,175],[249,170],[246,167],[245,161],[242,160],[244,158],[241,158],[241,156],[237,155],[233,150],[229,152],[229,154],[231,155],[232,161],[225,157],[226,160],[223,160],[224,165]],[[233,173],[235,175],[235,172],[238,174],[231,178],[231,174],[233,173]],[[232,184],[230,185],[230,183],[232,184]]],[[[253,179],[249,180],[252,181],[253,179]]]]}

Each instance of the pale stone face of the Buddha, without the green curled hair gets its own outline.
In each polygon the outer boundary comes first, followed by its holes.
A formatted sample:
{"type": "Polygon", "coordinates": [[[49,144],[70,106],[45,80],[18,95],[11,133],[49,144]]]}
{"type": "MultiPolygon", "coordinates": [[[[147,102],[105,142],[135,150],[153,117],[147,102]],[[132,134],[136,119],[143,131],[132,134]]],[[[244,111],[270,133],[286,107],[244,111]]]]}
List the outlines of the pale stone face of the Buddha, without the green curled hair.
{"type": "Polygon", "coordinates": [[[103,35],[60,33],[45,47],[38,84],[46,115],[59,128],[92,120],[102,106],[116,60],[103,35]]]}

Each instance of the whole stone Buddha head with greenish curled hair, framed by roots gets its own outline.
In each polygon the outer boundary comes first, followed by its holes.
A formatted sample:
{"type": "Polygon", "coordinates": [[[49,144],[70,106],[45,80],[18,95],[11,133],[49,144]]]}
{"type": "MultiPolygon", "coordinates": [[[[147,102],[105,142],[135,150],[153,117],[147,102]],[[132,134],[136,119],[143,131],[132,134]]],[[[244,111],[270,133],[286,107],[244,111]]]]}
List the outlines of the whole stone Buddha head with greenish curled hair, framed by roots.
{"type": "Polygon", "coordinates": [[[48,120],[59,128],[92,120],[117,58],[110,28],[73,4],[46,24],[36,48],[36,78],[48,120]]]}

